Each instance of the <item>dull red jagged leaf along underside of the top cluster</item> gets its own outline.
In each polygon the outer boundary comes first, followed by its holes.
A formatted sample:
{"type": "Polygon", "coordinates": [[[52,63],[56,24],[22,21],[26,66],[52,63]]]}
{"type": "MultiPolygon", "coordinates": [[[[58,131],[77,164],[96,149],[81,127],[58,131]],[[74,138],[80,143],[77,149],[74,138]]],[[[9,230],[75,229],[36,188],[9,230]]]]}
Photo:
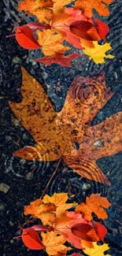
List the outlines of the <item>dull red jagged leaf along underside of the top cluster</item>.
{"type": "Polygon", "coordinates": [[[38,59],[35,59],[34,61],[43,62],[46,65],[51,65],[53,63],[57,63],[64,67],[72,67],[72,65],[70,65],[70,62],[78,57],[82,57],[82,55],[74,53],[74,54],[64,56],[63,54],[56,53],[55,56],[47,56],[47,57],[43,57],[43,58],[38,58],[38,59]]]}

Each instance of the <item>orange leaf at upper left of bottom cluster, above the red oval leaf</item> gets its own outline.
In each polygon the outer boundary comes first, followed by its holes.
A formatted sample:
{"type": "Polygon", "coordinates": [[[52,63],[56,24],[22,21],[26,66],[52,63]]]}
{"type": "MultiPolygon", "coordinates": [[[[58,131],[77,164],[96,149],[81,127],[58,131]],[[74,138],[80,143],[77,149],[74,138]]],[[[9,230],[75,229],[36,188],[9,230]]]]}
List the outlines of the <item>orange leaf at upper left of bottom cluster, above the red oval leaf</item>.
{"type": "Polygon", "coordinates": [[[29,206],[24,206],[24,214],[31,214],[33,217],[39,218],[44,225],[53,226],[56,218],[54,213],[56,206],[54,203],[43,203],[41,199],[31,202],[29,206]]]}

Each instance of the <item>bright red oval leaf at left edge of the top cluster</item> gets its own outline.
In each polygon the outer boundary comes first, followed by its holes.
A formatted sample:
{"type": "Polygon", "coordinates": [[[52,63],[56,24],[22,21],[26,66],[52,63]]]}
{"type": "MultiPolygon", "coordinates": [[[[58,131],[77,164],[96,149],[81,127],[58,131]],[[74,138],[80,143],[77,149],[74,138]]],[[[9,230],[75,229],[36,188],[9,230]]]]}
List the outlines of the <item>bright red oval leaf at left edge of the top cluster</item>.
{"type": "Polygon", "coordinates": [[[40,45],[35,39],[31,28],[29,28],[27,25],[17,27],[15,37],[20,46],[24,47],[25,49],[35,50],[40,48],[40,45]]]}

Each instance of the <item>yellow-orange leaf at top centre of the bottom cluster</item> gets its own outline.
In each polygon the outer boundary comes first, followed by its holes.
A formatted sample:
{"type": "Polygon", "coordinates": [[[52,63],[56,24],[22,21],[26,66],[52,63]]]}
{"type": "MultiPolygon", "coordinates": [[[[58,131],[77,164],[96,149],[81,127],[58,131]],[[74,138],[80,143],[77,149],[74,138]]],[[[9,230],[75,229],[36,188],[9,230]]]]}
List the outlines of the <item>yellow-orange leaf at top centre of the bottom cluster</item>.
{"type": "Polygon", "coordinates": [[[50,195],[45,195],[43,198],[43,202],[45,204],[53,203],[55,206],[57,206],[56,213],[64,212],[65,210],[68,210],[72,206],[76,206],[76,202],[66,203],[67,200],[68,193],[54,193],[52,197],[50,195]]]}

